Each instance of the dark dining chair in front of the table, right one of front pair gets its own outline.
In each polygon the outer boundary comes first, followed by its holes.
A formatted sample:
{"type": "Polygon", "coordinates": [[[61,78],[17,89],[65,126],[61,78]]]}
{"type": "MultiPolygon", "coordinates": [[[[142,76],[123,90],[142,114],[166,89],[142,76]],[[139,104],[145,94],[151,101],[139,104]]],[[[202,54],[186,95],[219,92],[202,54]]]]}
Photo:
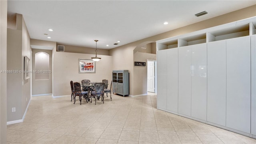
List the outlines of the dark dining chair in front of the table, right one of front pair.
{"type": "MultiPolygon", "coordinates": [[[[95,97],[95,104],[96,104],[96,99],[99,100],[100,96],[101,96],[101,101],[103,101],[103,104],[104,104],[104,86],[105,84],[103,82],[94,84],[94,91],[91,92],[91,95],[95,97]]],[[[92,103],[92,99],[91,99],[91,103],[92,103]]]]}

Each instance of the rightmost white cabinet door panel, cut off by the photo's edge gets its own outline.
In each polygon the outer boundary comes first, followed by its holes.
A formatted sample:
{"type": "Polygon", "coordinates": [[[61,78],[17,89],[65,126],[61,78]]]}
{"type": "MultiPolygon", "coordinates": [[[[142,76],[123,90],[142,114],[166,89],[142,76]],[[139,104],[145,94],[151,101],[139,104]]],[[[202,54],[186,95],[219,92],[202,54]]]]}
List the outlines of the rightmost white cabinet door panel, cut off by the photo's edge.
{"type": "Polygon", "coordinates": [[[256,135],[256,35],[251,36],[251,133],[256,135]]]}

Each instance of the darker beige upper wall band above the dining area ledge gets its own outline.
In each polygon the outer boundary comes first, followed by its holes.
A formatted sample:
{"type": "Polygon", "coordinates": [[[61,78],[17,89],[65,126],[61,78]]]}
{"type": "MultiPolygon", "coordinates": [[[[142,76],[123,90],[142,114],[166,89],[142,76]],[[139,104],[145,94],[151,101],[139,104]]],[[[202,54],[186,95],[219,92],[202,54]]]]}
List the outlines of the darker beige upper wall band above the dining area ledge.
{"type": "MultiPolygon", "coordinates": [[[[64,46],[64,51],[65,52],[74,52],[74,53],[81,53],[81,54],[95,54],[95,48],[86,48],[86,47],[81,47],[81,46],[70,46],[66,44],[58,44],[57,46],[61,45],[64,46]]],[[[106,49],[100,49],[97,48],[98,52],[97,55],[106,55],[109,56],[109,50],[106,49]]]]}

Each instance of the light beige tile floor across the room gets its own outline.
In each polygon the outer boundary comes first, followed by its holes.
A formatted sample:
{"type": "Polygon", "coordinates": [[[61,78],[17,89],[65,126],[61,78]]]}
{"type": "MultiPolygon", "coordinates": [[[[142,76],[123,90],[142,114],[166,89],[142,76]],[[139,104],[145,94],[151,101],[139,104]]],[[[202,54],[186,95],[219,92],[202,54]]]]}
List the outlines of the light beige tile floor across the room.
{"type": "Polygon", "coordinates": [[[256,144],[242,136],[156,109],[156,95],[112,94],[95,105],[70,96],[32,97],[24,122],[7,126],[8,144],[256,144]]]}

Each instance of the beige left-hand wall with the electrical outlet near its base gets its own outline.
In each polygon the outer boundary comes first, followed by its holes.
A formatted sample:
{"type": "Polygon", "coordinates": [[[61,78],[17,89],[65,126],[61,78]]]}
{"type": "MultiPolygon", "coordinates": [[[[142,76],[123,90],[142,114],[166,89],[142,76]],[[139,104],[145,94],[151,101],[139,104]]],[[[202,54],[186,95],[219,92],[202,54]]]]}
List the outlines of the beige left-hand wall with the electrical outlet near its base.
{"type": "MultiPolygon", "coordinates": [[[[16,28],[7,29],[7,70],[24,70],[24,56],[30,55],[30,36],[21,14],[16,15],[16,28]]],[[[7,74],[7,121],[22,120],[30,100],[30,79],[24,73],[7,74]],[[12,108],[16,112],[12,112],[12,108]]]]}

